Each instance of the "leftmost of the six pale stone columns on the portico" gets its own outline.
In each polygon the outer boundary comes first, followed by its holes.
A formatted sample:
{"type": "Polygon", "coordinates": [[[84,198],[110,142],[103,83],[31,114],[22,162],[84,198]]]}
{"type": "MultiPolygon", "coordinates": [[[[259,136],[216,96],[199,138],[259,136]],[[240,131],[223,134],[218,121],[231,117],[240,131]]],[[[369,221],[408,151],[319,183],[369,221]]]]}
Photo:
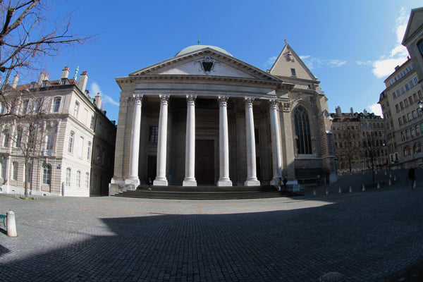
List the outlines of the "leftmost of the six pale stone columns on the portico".
{"type": "MultiPolygon", "coordinates": [[[[131,184],[137,188],[140,185],[138,178],[138,159],[140,158],[140,126],[141,126],[141,105],[142,94],[133,94],[135,99],[133,125],[130,137],[130,154],[129,154],[129,179],[131,184]]],[[[129,183],[128,183],[129,184],[129,183]]]]}

